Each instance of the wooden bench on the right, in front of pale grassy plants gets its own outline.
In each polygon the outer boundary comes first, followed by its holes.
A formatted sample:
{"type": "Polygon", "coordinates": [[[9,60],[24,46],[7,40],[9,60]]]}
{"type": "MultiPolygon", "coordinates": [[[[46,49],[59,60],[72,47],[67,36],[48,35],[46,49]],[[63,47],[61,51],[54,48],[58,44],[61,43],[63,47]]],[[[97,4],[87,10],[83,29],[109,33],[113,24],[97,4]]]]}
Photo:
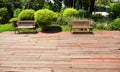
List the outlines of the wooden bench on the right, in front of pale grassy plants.
{"type": "Polygon", "coordinates": [[[90,20],[72,20],[70,21],[70,32],[73,28],[78,28],[82,30],[88,30],[89,32],[92,31],[92,25],[90,20]]]}

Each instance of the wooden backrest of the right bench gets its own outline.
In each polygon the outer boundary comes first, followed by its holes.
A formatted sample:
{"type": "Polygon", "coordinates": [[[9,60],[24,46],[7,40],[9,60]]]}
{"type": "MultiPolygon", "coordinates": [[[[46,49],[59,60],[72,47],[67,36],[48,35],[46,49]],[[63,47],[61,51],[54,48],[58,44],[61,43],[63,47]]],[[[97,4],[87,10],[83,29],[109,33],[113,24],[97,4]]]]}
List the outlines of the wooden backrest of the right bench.
{"type": "Polygon", "coordinates": [[[70,21],[70,25],[78,25],[78,26],[90,26],[90,20],[72,20],[70,21]]]}

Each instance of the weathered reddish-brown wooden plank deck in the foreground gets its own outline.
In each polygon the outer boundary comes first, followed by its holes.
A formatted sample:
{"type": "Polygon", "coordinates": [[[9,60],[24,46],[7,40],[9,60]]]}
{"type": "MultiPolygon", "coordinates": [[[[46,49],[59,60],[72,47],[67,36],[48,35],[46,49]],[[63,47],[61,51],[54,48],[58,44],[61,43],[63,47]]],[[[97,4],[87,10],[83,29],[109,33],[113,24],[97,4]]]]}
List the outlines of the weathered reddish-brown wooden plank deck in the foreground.
{"type": "Polygon", "coordinates": [[[120,31],[0,33],[0,72],[120,72],[120,31]]]}

